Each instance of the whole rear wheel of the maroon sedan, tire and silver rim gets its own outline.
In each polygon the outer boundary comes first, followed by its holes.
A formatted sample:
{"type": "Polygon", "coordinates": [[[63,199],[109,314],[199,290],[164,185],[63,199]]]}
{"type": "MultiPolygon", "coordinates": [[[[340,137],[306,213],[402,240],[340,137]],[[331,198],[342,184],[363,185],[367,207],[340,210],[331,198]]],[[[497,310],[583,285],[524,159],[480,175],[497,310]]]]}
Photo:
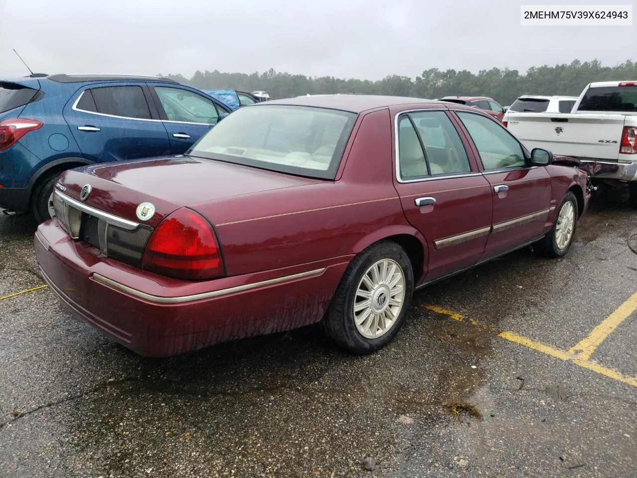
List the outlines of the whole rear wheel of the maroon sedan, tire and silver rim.
{"type": "Polygon", "coordinates": [[[343,349],[369,354],[396,336],[412,302],[413,270],[394,242],[368,247],[349,264],[322,327],[343,349]]]}

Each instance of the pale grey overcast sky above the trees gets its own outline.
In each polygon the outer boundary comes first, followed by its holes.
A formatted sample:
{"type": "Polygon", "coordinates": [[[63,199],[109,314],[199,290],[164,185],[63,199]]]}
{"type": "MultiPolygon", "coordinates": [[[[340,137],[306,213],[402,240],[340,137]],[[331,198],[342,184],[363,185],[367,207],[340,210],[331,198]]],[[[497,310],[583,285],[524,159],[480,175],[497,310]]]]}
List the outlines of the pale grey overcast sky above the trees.
{"type": "Polygon", "coordinates": [[[28,75],[12,48],[38,73],[187,77],[197,69],[274,68],[377,80],[428,68],[526,71],[573,59],[637,61],[637,24],[522,27],[520,4],[527,3],[533,2],[0,0],[0,77],[28,75]]]}

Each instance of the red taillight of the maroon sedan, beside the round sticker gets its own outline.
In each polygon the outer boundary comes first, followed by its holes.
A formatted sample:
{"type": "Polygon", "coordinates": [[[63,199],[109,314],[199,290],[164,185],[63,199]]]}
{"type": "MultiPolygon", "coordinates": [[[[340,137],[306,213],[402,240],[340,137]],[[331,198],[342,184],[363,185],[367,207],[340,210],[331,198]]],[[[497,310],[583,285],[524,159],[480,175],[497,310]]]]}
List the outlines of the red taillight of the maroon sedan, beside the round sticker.
{"type": "Polygon", "coordinates": [[[181,208],[157,226],[148,240],[141,268],[176,279],[211,279],[224,273],[221,251],[210,224],[181,208]]]}

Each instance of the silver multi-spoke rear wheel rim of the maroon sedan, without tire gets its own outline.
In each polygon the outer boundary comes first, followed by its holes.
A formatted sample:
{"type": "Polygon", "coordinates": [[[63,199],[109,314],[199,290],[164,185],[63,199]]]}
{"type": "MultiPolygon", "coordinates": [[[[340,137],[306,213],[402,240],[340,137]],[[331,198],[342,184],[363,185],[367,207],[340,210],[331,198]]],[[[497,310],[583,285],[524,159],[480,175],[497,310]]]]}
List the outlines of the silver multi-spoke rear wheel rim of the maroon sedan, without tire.
{"type": "Polygon", "coordinates": [[[379,338],[392,328],[404,303],[403,268],[380,259],[364,273],[354,298],[354,323],[365,338],[379,338]]]}

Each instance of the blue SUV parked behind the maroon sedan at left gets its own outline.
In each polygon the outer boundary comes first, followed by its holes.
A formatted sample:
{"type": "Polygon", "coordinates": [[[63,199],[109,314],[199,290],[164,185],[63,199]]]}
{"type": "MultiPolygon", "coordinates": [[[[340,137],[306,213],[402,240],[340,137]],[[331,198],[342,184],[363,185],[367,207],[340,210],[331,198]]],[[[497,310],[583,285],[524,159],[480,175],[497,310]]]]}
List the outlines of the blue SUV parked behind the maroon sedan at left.
{"type": "Polygon", "coordinates": [[[152,76],[0,80],[0,209],[45,221],[62,171],[182,154],[234,109],[152,76]]]}

